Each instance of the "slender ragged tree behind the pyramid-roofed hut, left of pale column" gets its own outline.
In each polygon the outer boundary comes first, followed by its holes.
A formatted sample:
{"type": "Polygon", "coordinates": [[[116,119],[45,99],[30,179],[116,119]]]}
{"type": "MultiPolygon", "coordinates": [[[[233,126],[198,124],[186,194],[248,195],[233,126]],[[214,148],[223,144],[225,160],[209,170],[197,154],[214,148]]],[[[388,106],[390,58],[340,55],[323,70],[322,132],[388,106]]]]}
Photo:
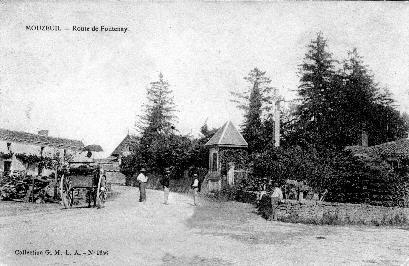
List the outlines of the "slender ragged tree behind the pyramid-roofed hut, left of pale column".
{"type": "Polygon", "coordinates": [[[264,147],[263,115],[271,110],[273,97],[271,95],[271,80],[266,72],[254,68],[244,77],[249,82],[245,92],[231,92],[232,102],[245,112],[242,133],[249,144],[250,152],[259,152],[264,147]]]}

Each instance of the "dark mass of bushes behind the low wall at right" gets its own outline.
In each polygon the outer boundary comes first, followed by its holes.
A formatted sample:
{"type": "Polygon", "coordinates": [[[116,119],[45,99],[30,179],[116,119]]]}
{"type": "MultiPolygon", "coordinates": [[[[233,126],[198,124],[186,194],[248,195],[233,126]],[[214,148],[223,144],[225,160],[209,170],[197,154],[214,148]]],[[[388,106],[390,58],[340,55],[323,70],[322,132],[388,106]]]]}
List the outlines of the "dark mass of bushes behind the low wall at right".
{"type": "Polygon", "coordinates": [[[271,190],[272,181],[304,181],[316,192],[327,190],[325,200],[400,206],[408,197],[409,169],[395,171],[382,159],[361,159],[350,151],[313,147],[272,147],[252,154],[253,171],[245,190],[271,190]]]}

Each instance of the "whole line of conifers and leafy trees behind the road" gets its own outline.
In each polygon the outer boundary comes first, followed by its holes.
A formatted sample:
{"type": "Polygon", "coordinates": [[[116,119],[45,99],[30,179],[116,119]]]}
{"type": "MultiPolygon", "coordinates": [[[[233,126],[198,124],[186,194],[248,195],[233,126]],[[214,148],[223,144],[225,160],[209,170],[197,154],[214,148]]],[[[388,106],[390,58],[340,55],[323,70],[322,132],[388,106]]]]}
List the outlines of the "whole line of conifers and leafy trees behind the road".
{"type": "MultiPolygon", "coordinates": [[[[345,147],[360,144],[363,133],[369,145],[376,145],[406,137],[409,130],[408,115],[396,109],[391,93],[375,81],[356,48],[336,60],[328,41],[317,33],[306,49],[298,67],[297,104],[275,110],[276,101],[283,99],[257,67],[244,77],[247,88],[231,92],[231,101],[244,114],[241,131],[249,144],[253,188],[287,178],[329,188],[334,178],[340,178],[339,162],[353,160],[344,156],[345,147]],[[281,112],[280,148],[274,147],[274,112],[281,112]]],[[[202,137],[180,134],[175,128],[176,107],[170,85],[160,74],[147,89],[135,152],[124,158],[123,172],[147,167],[161,174],[171,167],[177,177],[186,169],[207,168],[204,144],[216,130],[205,123],[202,137]]],[[[356,173],[343,173],[344,180],[348,174],[356,173]]]]}

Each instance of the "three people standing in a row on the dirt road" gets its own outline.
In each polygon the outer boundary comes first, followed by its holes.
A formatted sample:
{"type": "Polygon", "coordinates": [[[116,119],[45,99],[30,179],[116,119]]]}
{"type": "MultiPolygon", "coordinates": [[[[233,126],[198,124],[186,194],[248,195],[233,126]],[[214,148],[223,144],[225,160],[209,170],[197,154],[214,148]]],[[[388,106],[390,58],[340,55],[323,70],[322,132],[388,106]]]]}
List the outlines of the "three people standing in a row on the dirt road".
{"type": "MultiPolygon", "coordinates": [[[[142,168],[136,180],[139,183],[139,202],[146,202],[146,186],[148,183],[148,177],[146,175],[146,169],[142,168]]],[[[163,187],[163,204],[168,205],[169,200],[169,185],[170,185],[170,169],[165,169],[165,174],[161,179],[161,185],[163,187]]],[[[192,190],[193,190],[193,204],[197,206],[197,197],[199,191],[199,177],[197,174],[193,174],[193,182],[192,182],[192,190]]]]}

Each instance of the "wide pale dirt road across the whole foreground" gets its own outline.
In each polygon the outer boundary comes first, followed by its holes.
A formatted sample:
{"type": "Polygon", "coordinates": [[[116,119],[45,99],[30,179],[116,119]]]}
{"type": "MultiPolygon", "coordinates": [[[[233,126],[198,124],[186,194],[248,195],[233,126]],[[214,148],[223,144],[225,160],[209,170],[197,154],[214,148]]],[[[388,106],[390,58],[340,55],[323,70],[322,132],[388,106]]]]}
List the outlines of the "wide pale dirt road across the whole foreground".
{"type": "Polygon", "coordinates": [[[137,189],[114,189],[104,209],[0,202],[1,264],[409,265],[407,229],[275,223],[247,204],[171,194],[163,205],[152,190],[142,204],[137,189]]]}

